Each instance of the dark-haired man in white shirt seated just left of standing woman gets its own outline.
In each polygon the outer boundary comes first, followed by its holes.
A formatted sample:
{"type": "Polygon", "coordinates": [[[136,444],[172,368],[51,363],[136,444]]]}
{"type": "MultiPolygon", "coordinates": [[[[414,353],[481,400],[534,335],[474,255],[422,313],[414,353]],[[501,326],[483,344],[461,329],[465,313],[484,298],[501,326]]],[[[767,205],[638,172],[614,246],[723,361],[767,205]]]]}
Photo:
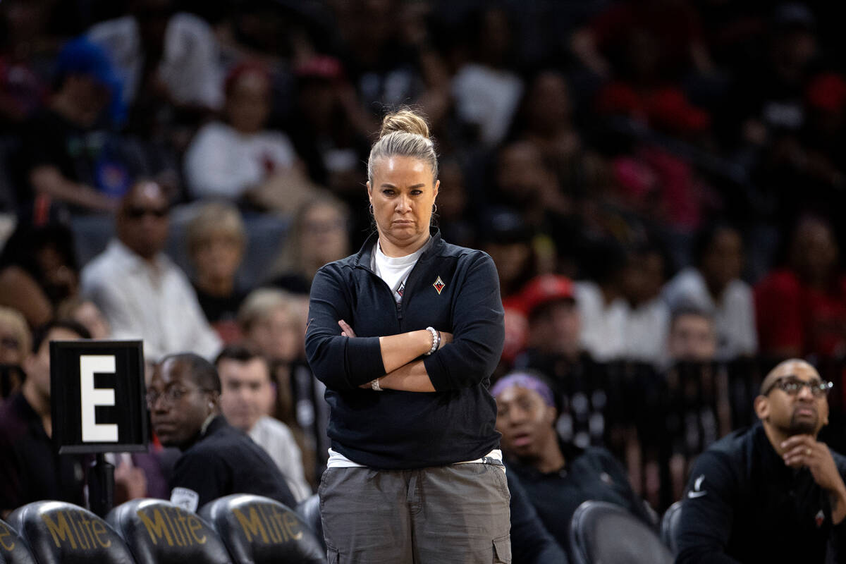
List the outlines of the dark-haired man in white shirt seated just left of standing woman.
{"type": "Polygon", "coordinates": [[[294,498],[305,500],[311,488],[305,481],[299,446],[286,424],[267,415],[274,400],[267,361],[247,348],[230,345],[217,355],[215,364],[223,415],[270,455],[294,498]]]}

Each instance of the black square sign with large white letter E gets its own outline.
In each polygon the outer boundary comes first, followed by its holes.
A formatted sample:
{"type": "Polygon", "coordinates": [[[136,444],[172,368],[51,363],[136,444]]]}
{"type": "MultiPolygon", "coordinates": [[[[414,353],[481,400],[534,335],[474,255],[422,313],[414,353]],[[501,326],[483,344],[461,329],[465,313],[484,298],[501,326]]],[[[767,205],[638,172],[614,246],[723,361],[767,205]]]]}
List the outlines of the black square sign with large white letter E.
{"type": "Polygon", "coordinates": [[[146,452],[140,341],[50,342],[50,395],[60,454],[146,452]]]}

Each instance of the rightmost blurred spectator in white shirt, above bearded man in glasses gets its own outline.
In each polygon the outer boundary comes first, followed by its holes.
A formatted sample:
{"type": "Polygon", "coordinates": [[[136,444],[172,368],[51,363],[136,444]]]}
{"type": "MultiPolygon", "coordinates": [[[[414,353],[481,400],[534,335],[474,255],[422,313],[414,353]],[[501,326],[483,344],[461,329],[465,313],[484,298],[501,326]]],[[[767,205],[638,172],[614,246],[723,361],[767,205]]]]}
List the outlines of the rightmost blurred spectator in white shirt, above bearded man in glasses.
{"type": "Polygon", "coordinates": [[[717,224],[695,244],[696,266],[678,272],[663,290],[671,309],[696,308],[711,314],[717,328],[717,359],[754,355],[758,350],[752,289],[740,280],[743,240],[733,227],[717,224]]]}

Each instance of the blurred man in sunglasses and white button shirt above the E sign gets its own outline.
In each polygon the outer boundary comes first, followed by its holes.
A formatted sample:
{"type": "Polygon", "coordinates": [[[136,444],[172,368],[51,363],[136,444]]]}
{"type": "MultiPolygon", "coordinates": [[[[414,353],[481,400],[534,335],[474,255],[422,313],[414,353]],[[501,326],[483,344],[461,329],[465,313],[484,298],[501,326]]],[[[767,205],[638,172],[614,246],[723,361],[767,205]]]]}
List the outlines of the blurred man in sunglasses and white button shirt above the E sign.
{"type": "Polygon", "coordinates": [[[220,339],[188,277],[162,253],[168,223],[162,187],[136,183],[121,200],[118,237],[82,270],[82,294],[106,315],[113,338],[143,339],[146,359],[184,351],[213,359],[220,339]]]}

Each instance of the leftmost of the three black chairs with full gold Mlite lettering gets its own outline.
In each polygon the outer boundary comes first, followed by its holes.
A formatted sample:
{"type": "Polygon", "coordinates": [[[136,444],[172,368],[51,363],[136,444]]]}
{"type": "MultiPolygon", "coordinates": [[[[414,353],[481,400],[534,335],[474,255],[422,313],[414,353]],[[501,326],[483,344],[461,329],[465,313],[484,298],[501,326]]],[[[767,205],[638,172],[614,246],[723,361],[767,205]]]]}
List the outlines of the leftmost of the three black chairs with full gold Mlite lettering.
{"type": "Polygon", "coordinates": [[[113,528],[94,513],[64,501],[33,501],[8,523],[38,564],[132,564],[132,553],[113,528]]]}

